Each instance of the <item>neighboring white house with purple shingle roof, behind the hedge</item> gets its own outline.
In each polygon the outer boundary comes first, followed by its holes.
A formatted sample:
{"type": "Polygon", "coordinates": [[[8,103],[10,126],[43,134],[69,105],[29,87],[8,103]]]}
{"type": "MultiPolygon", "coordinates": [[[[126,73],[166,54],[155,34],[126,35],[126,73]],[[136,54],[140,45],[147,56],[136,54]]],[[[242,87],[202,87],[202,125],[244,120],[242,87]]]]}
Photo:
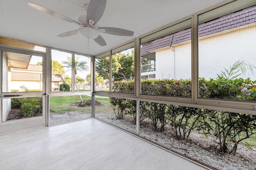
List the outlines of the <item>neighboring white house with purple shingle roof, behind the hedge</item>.
{"type": "MultiPolygon", "coordinates": [[[[238,60],[256,66],[256,6],[228,14],[199,26],[199,77],[216,78],[238,60]]],[[[191,28],[142,45],[142,79],[191,78],[191,28]]],[[[256,80],[255,74],[244,78],[256,80]]]]}

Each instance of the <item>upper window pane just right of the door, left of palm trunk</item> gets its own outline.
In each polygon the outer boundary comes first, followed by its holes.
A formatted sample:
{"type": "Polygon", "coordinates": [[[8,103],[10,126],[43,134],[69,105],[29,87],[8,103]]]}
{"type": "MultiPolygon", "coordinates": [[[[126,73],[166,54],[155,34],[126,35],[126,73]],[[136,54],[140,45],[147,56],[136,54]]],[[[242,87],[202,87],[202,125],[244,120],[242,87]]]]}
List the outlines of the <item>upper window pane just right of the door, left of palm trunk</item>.
{"type": "Polygon", "coordinates": [[[52,92],[72,91],[72,54],[51,50],[52,56],[52,92]]]}

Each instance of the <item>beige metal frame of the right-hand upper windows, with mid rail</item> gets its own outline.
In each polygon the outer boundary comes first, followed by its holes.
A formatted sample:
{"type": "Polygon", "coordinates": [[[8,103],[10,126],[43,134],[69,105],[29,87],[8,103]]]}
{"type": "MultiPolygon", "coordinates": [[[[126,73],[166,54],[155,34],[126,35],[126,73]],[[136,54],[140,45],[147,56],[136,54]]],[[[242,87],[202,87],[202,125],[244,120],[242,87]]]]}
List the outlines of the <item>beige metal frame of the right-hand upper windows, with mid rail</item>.
{"type": "MultiPolygon", "coordinates": [[[[180,20],[174,21],[172,23],[169,23],[167,25],[164,25],[162,27],[159,27],[158,29],[155,29],[153,31],[150,31],[144,35],[141,35],[134,39],[135,45],[134,45],[134,58],[135,58],[135,95],[129,95],[129,94],[116,94],[116,93],[104,93],[104,92],[93,92],[94,95],[100,95],[100,96],[108,96],[108,97],[118,97],[118,98],[126,98],[126,99],[132,99],[137,101],[145,101],[145,102],[157,102],[157,103],[163,103],[163,104],[173,104],[173,105],[179,105],[179,106],[188,106],[188,107],[197,107],[197,108],[204,108],[204,109],[215,109],[215,110],[221,110],[221,111],[230,111],[230,112],[237,112],[237,113],[245,113],[250,115],[256,115],[256,102],[244,102],[244,101],[232,101],[232,100],[221,100],[221,99],[202,99],[198,98],[199,94],[199,79],[198,79],[198,16],[201,14],[204,14],[206,12],[210,12],[211,10],[218,8],[218,14],[216,15],[222,15],[224,13],[227,13],[228,6],[232,5],[232,3],[238,3],[240,4],[240,9],[245,8],[248,5],[251,5],[252,3],[255,3],[253,0],[249,0],[248,3],[246,2],[238,2],[238,0],[226,0],[222,3],[216,4],[214,6],[211,6],[209,8],[206,8],[202,11],[199,11],[191,16],[188,16],[186,18],[182,18],[180,20]],[[225,8],[225,5],[227,5],[225,8]],[[162,31],[164,29],[168,29],[168,27],[177,25],[179,23],[182,23],[183,21],[191,19],[191,80],[192,80],[192,94],[191,98],[184,98],[184,97],[174,97],[174,96],[148,96],[148,95],[142,95],[140,94],[140,44],[141,39],[143,40],[144,37],[148,35],[157,35],[158,31],[162,31]]],[[[236,10],[238,10],[236,8],[236,10]]],[[[210,14],[210,13],[208,13],[210,14]]],[[[178,30],[179,28],[177,28],[178,30]]],[[[155,36],[153,36],[155,37],[155,36]]],[[[127,42],[129,43],[129,42],[127,42]]],[[[124,43],[125,44],[125,43],[124,43]]],[[[121,46],[121,45],[120,45],[121,46]]],[[[109,51],[109,55],[111,56],[111,50],[109,51]]],[[[107,52],[105,52],[107,53],[107,52]]],[[[100,56],[100,55],[98,55],[100,56]]],[[[97,55],[96,55],[97,57],[97,55]]],[[[110,72],[112,68],[110,65],[110,72]]],[[[110,81],[111,83],[111,81],[110,81]]]]}

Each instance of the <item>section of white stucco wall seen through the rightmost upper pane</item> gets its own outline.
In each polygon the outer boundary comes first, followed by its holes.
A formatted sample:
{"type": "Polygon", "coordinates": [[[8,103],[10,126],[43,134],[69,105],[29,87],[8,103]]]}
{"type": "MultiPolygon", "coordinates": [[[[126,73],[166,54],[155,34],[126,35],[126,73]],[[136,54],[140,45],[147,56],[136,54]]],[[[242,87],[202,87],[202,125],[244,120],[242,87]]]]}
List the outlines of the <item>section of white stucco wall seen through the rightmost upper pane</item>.
{"type": "MultiPolygon", "coordinates": [[[[216,78],[225,68],[230,68],[236,61],[246,61],[256,66],[256,27],[250,27],[232,33],[199,41],[199,77],[216,78]]],[[[255,74],[246,76],[256,80],[255,74]]]]}

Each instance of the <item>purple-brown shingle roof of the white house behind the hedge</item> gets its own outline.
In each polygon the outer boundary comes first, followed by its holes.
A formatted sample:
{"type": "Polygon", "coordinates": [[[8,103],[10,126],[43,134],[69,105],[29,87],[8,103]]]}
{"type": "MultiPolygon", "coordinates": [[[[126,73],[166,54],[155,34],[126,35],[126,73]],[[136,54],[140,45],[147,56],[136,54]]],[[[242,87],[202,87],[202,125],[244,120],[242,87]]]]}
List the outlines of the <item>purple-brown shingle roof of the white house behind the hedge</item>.
{"type": "MultiPolygon", "coordinates": [[[[256,22],[256,6],[252,6],[198,25],[199,37],[254,22],[256,22]]],[[[143,44],[141,48],[141,55],[149,53],[148,51],[160,49],[188,40],[191,40],[191,28],[184,29],[172,35],[167,35],[165,37],[143,44]]]]}

